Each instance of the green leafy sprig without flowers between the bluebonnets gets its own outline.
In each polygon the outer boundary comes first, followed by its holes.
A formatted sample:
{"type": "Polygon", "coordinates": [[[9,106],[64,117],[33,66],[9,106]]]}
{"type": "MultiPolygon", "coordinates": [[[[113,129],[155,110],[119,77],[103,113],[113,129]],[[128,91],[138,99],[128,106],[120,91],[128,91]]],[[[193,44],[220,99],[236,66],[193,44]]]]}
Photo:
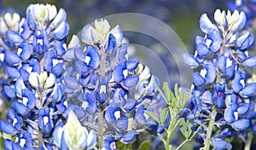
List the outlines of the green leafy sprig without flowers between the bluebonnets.
{"type": "Polygon", "coordinates": [[[165,99],[167,107],[160,113],[160,118],[156,114],[149,111],[147,111],[146,113],[149,117],[153,118],[154,121],[156,121],[160,125],[164,125],[167,115],[171,113],[171,119],[168,124],[169,127],[168,129],[165,129],[166,139],[164,139],[160,133],[158,134],[158,136],[160,137],[160,140],[164,143],[167,150],[177,150],[182,147],[187,141],[191,141],[196,135],[197,131],[201,128],[199,127],[198,130],[193,132],[193,130],[191,130],[193,124],[191,124],[189,120],[185,121],[184,118],[180,118],[179,116],[179,113],[183,110],[183,108],[189,101],[189,96],[192,92],[192,89],[188,92],[183,89],[178,89],[177,84],[175,84],[173,94],[167,83],[163,84],[163,90],[161,90],[157,85],[154,86],[156,87],[156,89],[158,89],[160,95],[165,99]],[[182,135],[185,138],[185,141],[183,141],[178,147],[173,147],[172,145],[170,145],[170,140],[173,132],[175,132],[177,128],[179,128],[179,130],[181,131],[182,135]]]}

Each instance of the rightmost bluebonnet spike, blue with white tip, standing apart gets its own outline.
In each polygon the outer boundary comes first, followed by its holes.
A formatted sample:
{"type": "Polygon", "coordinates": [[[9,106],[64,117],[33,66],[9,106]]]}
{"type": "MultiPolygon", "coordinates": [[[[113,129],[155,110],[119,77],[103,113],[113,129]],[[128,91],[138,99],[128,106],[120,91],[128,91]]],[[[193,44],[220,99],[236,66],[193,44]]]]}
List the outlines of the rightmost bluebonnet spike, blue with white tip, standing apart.
{"type": "Polygon", "coordinates": [[[230,149],[224,141],[231,132],[226,129],[212,137],[212,128],[218,124],[220,129],[229,127],[246,130],[255,125],[254,98],[256,83],[246,84],[246,68],[256,67],[256,56],[248,55],[247,49],[253,45],[253,33],[243,29],[246,14],[235,10],[214,13],[213,24],[207,14],[200,18],[201,31],[205,37],[195,38],[195,55],[183,54],[183,62],[191,68],[198,68],[193,73],[195,89],[189,101],[190,113],[194,121],[204,124],[201,136],[205,148],[209,148],[209,139],[216,149],[230,149]],[[210,116],[210,117],[208,117],[210,116]],[[207,119],[212,121],[207,124],[207,119]],[[215,122],[216,121],[216,122],[215,122]]]}

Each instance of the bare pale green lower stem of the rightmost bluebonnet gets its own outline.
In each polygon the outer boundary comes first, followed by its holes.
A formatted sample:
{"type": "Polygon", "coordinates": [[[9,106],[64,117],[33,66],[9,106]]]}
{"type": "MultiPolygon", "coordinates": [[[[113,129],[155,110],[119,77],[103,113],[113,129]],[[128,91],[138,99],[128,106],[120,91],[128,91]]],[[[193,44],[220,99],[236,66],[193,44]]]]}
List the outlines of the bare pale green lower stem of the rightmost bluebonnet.
{"type": "Polygon", "coordinates": [[[212,118],[210,119],[210,123],[209,123],[209,126],[207,128],[207,139],[205,141],[206,143],[205,143],[205,146],[204,146],[203,150],[209,150],[210,149],[210,139],[212,137],[212,130],[213,130],[213,125],[214,125],[216,114],[217,114],[216,107],[213,107],[212,108],[212,115],[211,115],[212,118]]]}

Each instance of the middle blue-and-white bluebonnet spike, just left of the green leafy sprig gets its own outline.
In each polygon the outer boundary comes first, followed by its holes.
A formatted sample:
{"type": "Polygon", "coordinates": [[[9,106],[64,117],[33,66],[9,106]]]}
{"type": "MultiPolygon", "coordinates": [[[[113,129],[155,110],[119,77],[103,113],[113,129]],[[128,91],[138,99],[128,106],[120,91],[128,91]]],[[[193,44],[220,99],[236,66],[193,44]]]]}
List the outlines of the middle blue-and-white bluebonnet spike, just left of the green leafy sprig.
{"type": "Polygon", "coordinates": [[[108,20],[96,20],[95,27],[84,26],[81,37],[85,46],[73,36],[64,55],[69,64],[63,80],[70,107],[82,124],[97,130],[99,147],[129,143],[145,128],[158,132],[145,111],[158,111],[159,79],[137,58],[128,58],[119,26],[111,29],[108,20]]]}

